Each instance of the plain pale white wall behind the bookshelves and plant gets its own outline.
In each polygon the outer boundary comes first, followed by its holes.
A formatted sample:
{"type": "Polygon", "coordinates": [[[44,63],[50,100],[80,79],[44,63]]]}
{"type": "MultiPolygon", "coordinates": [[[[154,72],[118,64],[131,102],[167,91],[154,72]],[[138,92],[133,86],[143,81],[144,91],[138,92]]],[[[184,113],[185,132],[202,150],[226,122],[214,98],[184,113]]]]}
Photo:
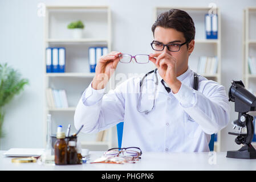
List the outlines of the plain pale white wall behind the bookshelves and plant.
{"type": "MultiPolygon", "coordinates": [[[[38,3],[51,5],[108,5],[112,10],[112,50],[127,53],[151,52],[151,26],[155,6],[208,6],[216,3],[221,10],[222,34],[222,84],[228,91],[230,81],[242,79],[242,25],[243,9],[256,6],[256,2],[244,1],[147,1],[147,0],[99,0],[99,1],[35,1],[0,0],[0,62],[7,62],[29,78],[25,92],[15,97],[5,107],[3,130],[6,137],[0,139],[0,150],[11,147],[43,147],[43,18],[37,15],[38,3]],[[232,67],[230,67],[232,65],[232,67]],[[231,68],[231,69],[230,69],[231,68]]],[[[118,72],[131,69],[141,73],[148,71],[140,65],[119,64],[118,72]]],[[[233,102],[230,102],[230,122],[237,119],[233,102]]],[[[222,151],[237,150],[235,137],[228,135],[231,123],[222,130],[222,151]]]]}

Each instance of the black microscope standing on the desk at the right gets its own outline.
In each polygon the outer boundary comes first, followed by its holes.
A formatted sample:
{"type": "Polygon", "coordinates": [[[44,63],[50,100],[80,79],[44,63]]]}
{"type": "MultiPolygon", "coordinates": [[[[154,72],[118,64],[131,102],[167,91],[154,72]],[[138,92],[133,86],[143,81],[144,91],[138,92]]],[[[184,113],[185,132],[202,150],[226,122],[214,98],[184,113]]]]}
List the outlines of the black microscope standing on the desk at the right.
{"type": "Polygon", "coordinates": [[[256,97],[245,89],[242,81],[231,81],[229,89],[229,101],[235,102],[235,111],[238,112],[238,119],[233,121],[233,129],[238,127],[238,132],[229,132],[236,135],[235,143],[243,144],[237,151],[227,151],[227,158],[256,159],[255,148],[251,145],[254,135],[254,117],[247,114],[249,111],[256,111],[256,97]],[[246,127],[246,133],[242,129],[246,127]]]}

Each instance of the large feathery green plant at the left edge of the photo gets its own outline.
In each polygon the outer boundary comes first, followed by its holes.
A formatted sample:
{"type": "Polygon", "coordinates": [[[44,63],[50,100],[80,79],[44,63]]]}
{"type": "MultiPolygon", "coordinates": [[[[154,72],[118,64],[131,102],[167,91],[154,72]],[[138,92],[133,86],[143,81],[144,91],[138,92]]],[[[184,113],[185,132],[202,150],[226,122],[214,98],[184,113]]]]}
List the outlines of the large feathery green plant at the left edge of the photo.
{"type": "Polygon", "coordinates": [[[29,84],[29,80],[21,78],[17,70],[9,67],[7,63],[0,64],[0,138],[5,136],[2,131],[5,117],[3,106],[19,94],[26,84],[29,84]]]}

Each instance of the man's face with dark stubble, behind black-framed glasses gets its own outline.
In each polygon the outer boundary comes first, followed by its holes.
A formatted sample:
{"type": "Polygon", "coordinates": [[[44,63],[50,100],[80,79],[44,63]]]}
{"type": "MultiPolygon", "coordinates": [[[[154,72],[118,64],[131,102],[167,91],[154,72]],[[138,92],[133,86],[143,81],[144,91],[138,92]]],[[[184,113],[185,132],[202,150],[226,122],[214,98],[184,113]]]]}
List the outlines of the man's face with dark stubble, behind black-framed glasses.
{"type": "MultiPolygon", "coordinates": [[[[163,28],[163,27],[156,27],[155,29],[155,42],[162,43],[162,44],[169,44],[170,42],[176,44],[182,44],[186,42],[186,39],[182,32],[175,30],[174,28],[163,28]]],[[[182,73],[188,69],[188,57],[190,53],[192,53],[194,49],[194,40],[189,43],[187,47],[186,44],[180,47],[180,51],[172,52],[164,47],[162,51],[155,51],[155,52],[166,52],[169,53],[177,60],[176,64],[176,71],[177,76],[180,76],[182,73]]]]}

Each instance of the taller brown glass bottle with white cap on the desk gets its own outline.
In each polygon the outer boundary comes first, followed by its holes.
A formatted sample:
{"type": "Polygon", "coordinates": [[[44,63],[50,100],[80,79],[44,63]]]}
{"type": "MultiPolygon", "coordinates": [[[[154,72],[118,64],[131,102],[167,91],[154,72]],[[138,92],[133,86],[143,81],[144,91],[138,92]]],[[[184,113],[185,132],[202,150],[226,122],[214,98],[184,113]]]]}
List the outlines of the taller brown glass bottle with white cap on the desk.
{"type": "Polygon", "coordinates": [[[65,133],[62,132],[62,126],[58,126],[56,138],[54,145],[55,164],[65,165],[67,164],[67,143],[65,141],[65,133]]]}

